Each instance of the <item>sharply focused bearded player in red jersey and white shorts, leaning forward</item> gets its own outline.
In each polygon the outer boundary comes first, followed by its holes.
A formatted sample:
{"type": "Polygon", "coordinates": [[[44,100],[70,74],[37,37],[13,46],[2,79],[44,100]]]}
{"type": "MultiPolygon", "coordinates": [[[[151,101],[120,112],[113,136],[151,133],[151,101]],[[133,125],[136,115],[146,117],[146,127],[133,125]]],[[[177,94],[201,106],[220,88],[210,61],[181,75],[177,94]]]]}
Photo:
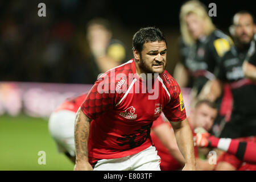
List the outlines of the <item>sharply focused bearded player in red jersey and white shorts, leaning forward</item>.
{"type": "Polygon", "coordinates": [[[133,53],[134,59],[98,78],[77,111],[75,170],[160,170],[150,129],[162,111],[185,159],[183,169],[195,170],[193,135],[179,85],[165,70],[162,32],[141,28],[133,53]]]}

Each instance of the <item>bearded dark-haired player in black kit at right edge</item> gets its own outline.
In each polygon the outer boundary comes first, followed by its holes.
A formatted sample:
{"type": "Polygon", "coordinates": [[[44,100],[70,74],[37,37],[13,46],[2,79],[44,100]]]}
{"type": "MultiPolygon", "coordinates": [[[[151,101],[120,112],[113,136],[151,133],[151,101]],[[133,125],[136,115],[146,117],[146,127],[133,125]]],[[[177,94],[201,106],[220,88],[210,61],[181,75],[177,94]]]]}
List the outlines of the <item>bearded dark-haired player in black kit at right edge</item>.
{"type": "MultiPolygon", "coordinates": [[[[245,78],[242,65],[255,34],[253,16],[247,11],[236,13],[230,33],[235,46],[222,57],[216,69],[217,78],[205,85],[200,97],[216,100],[221,95],[223,84],[228,82],[232,88],[233,110],[231,119],[225,123],[220,137],[251,141],[256,136],[256,84],[245,78]]],[[[220,156],[216,169],[234,170],[240,165],[241,160],[225,153],[220,156]]]]}

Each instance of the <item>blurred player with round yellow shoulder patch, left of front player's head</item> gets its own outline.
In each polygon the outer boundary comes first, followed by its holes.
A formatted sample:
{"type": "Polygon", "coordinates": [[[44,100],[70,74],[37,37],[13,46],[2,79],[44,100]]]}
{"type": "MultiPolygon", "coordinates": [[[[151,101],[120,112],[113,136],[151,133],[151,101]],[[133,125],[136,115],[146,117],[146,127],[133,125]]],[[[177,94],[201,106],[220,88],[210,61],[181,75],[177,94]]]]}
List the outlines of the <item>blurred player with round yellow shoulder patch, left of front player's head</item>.
{"type": "Polygon", "coordinates": [[[100,73],[117,67],[126,58],[124,44],[120,40],[112,39],[112,34],[110,23],[106,19],[95,18],[87,24],[86,38],[92,54],[88,64],[90,72],[94,74],[94,81],[100,73]]]}

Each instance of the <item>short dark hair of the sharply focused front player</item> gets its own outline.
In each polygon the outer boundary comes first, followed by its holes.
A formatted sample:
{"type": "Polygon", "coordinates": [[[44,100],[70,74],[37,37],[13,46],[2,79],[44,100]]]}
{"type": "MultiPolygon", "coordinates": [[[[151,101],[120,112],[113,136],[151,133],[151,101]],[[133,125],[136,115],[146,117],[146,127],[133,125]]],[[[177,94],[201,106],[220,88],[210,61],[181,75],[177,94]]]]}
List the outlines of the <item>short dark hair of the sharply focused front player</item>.
{"type": "Polygon", "coordinates": [[[141,53],[144,43],[164,41],[167,45],[166,38],[159,28],[144,27],[139,29],[133,36],[133,49],[141,53]]]}

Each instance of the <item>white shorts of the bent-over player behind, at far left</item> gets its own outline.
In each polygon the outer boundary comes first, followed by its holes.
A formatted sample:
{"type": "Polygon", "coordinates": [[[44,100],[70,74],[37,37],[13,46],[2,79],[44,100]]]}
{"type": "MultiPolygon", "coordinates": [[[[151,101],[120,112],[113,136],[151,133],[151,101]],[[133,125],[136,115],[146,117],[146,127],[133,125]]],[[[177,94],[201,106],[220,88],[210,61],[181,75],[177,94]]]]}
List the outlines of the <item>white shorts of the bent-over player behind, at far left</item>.
{"type": "Polygon", "coordinates": [[[76,113],[69,110],[60,110],[49,117],[49,133],[57,144],[59,152],[68,152],[75,156],[75,119],[76,113]]]}

